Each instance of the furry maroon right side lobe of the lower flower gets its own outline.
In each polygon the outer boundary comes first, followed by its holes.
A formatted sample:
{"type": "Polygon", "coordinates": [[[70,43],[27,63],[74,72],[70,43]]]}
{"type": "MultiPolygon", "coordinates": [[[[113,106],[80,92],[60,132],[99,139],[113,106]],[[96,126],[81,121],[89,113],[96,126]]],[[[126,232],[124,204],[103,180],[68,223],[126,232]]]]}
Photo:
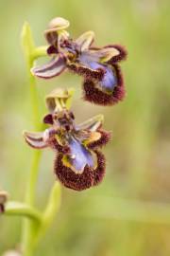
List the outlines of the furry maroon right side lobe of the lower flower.
{"type": "Polygon", "coordinates": [[[97,132],[100,133],[101,137],[98,140],[88,144],[88,148],[90,149],[95,149],[98,147],[105,146],[110,141],[110,137],[111,137],[110,132],[104,131],[102,129],[98,129],[97,132]]]}

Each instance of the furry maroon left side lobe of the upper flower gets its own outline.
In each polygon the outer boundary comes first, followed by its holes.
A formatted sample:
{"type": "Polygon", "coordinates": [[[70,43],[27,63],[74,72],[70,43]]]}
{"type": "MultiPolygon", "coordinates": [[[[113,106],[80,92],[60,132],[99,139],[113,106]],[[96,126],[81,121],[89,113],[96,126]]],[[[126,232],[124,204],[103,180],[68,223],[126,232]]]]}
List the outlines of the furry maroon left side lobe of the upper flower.
{"type": "Polygon", "coordinates": [[[68,64],[67,67],[68,69],[70,69],[70,71],[73,71],[77,75],[83,76],[86,79],[94,79],[97,81],[101,81],[105,74],[105,70],[102,68],[93,70],[88,67],[85,67],[82,65],[76,65],[76,64],[68,64]]]}

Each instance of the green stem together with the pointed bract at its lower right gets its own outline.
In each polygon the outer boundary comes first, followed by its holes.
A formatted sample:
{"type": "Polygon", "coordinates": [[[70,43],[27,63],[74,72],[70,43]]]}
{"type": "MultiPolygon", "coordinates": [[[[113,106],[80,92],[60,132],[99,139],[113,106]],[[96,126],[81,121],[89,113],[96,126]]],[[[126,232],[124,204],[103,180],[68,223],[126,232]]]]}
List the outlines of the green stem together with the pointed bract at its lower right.
{"type": "MultiPolygon", "coordinates": [[[[26,23],[22,31],[22,44],[26,56],[27,72],[29,78],[29,88],[30,88],[30,98],[32,104],[32,119],[34,128],[39,131],[41,130],[40,126],[40,111],[39,111],[39,99],[36,87],[36,80],[31,74],[30,69],[33,67],[34,61],[37,58],[46,55],[46,46],[35,47],[32,39],[32,34],[29,25],[26,23]]],[[[42,152],[35,150],[33,153],[32,165],[30,168],[30,174],[28,179],[28,185],[26,189],[26,207],[27,213],[36,215],[38,213],[34,210],[35,203],[35,191],[36,184],[39,175],[39,165],[41,160],[42,152]],[[34,210],[34,211],[28,211],[34,210]]],[[[50,194],[47,207],[44,213],[41,216],[41,223],[38,226],[37,222],[32,221],[32,218],[26,219],[23,226],[23,237],[22,237],[22,250],[24,256],[32,256],[33,250],[37,243],[42,238],[42,235],[45,233],[46,229],[51,225],[54,216],[59,211],[60,205],[60,185],[56,183],[50,194]]],[[[23,209],[24,210],[24,209],[23,209]]],[[[13,212],[14,213],[14,212],[13,212]]],[[[19,213],[19,212],[18,212],[19,213]]],[[[30,214],[27,216],[30,217],[30,214]]],[[[34,216],[35,217],[35,216],[34,216]]]]}

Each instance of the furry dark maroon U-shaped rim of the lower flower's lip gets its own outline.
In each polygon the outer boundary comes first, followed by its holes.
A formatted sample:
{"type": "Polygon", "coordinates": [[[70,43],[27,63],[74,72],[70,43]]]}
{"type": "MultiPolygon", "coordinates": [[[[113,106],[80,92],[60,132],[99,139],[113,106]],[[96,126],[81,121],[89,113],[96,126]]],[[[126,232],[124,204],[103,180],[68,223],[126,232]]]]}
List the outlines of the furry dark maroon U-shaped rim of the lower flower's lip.
{"type": "Polygon", "coordinates": [[[97,151],[97,167],[92,170],[88,166],[82,174],[75,174],[70,168],[62,163],[63,155],[59,154],[55,160],[55,173],[59,181],[66,187],[75,191],[83,191],[100,183],[105,174],[105,156],[97,151]]]}

